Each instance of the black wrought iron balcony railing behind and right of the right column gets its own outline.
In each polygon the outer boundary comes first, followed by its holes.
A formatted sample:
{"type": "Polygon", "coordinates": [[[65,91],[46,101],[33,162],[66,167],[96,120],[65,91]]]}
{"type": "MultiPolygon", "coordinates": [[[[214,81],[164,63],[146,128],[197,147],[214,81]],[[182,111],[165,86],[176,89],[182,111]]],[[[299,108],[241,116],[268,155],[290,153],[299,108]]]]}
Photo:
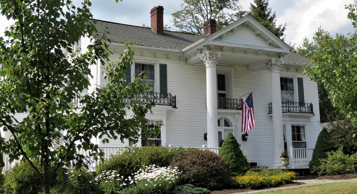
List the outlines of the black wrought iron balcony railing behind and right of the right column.
{"type": "MultiPolygon", "coordinates": [[[[269,103],[269,113],[272,113],[272,103],[269,103]]],[[[282,102],[282,112],[307,112],[313,113],[312,103],[300,103],[300,102],[282,102]]]]}

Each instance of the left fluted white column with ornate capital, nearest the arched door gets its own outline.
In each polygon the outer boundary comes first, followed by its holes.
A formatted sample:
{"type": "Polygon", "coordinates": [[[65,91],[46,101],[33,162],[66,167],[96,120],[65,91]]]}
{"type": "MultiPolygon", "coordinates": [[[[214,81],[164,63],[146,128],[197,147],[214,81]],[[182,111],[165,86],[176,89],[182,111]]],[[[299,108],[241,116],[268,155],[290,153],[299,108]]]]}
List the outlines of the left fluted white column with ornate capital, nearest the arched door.
{"type": "Polygon", "coordinates": [[[206,65],[207,147],[218,147],[216,65],[220,56],[220,53],[211,51],[201,54],[201,59],[206,65]]]}

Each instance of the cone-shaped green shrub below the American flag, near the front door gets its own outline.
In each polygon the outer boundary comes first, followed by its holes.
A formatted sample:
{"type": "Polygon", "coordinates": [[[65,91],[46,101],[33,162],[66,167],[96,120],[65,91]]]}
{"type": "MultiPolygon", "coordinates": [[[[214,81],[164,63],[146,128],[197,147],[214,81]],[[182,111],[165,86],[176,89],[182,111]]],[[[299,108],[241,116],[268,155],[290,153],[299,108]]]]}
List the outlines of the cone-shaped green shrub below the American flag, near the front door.
{"type": "Polygon", "coordinates": [[[243,175],[250,169],[247,158],[232,133],[228,133],[218,155],[223,157],[233,176],[243,175]]]}

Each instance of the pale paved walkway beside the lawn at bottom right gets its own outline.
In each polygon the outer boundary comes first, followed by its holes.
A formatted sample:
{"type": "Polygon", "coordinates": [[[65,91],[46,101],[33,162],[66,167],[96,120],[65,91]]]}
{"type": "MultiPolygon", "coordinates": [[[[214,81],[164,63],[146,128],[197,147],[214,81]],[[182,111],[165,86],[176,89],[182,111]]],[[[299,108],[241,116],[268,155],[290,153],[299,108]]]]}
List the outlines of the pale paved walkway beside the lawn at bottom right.
{"type": "Polygon", "coordinates": [[[232,194],[257,193],[257,192],[277,190],[277,189],[288,189],[288,188],[294,188],[294,187],[305,187],[305,186],[307,186],[307,185],[316,185],[316,184],[323,184],[323,183],[341,183],[341,182],[357,183],[357,178],[355,178],[355,179],[341,179],[341,180],[317,180],[317,179],[309,179],[309,180],[297,180],[296,182],[301,182],[301,183],[306,183],[306,184],[303,184],[303,185],[291,185],[291,186],[286,186],[286,187],[274,187],[274,188],[254,190],[254,191],[241,192],[241,193],[232,193],[232,194]]]}

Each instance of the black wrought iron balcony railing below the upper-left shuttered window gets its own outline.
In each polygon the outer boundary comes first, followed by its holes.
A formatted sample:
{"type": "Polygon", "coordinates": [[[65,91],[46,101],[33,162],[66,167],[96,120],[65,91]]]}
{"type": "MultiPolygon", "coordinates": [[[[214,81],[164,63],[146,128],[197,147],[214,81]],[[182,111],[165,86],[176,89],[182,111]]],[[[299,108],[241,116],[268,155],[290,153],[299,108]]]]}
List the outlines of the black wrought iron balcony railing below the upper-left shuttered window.
{"type": "MultiPolygon", "coordinates": [[[[143,94],[139,94],[136,96],[137,99],[141,100],[143,103],[150,103],[150,101],[154,102],[154,104],[158,105],[168,105],[172,106],[172,108],[176,107],[176,95],[172,96],[171,93],[162,94],[158,92],[154,92],[154,94],[150,94],[150,92],[144,92],[143,94]],[[147,99],[146,96],[149,98],[147,99]]],[[[125,103],[129,103],[130,99],[127,98],[124,100],[125,103]]]]}

